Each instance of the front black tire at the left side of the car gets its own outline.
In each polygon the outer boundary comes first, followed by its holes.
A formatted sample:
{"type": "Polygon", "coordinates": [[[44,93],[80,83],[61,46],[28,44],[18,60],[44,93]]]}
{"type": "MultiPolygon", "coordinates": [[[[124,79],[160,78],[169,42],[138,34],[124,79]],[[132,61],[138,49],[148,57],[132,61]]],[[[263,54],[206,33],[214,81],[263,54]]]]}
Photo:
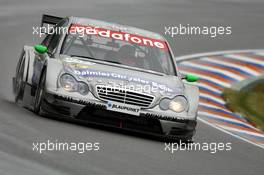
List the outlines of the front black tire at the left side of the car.
{"type": "Polygon", "coordinates": [[[41,74],[34,100],[34,112],[37,115],[42,115],[41,105],[43,102],[43,97],[45,95],[45,82],[46,82],[46,69],[44,69],[43,73],[41,74]]]}

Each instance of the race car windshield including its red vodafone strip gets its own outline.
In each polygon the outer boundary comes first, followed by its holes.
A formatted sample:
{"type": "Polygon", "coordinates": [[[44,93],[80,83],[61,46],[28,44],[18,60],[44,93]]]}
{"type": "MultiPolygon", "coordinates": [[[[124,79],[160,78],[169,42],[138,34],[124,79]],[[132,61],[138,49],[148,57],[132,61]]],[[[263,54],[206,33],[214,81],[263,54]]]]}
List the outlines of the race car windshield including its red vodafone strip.
{"type": "Polygon", "coordinates": [[[175,75],[165,41],[120,31],[72,25],[62,54],[175,75]]]}

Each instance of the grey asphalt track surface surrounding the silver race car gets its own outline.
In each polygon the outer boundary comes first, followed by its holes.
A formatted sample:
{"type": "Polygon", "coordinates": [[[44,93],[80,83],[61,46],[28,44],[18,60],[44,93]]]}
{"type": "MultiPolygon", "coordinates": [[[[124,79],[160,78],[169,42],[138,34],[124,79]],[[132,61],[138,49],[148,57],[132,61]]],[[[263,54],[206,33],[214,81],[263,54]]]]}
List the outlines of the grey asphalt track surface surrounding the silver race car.
{"type": "Polygon", "coordinates": [[[231,37],[170,39],[177,56],[230,49],[263,48],[261,0],[0,1],[0,174],[263,174],[264,151],[215,128],[198,123],[195,141],[231,142],[228,152],[164,151],[164,143],[132,133],[102,130],[41,118],[14,104],[11,77],[32,26],[42,13],[77,15],[115,21],[163,33],[176,23],[231,25],[231,37]],[[63,2],[63,3],[62,3],[63,2]],[[100,142],[100,151],[32,151],[36,141],[100,142]]]}

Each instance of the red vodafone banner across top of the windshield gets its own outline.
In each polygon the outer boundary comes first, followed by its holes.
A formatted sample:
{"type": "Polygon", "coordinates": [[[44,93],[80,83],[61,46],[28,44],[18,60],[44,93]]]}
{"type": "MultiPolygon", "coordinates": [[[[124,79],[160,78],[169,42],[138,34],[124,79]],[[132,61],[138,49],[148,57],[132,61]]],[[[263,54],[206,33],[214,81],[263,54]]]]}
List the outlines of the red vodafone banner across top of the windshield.
{"type": "Polygon", "coordinates": [[[125,33],[121,31],[114,31],[94,26],[84,26],[80,24],[73,24],[69,28],[70,33],[80,34],[80,36],[86,35],[97,35],[106,38],[113,38],[116,40],[122,40],[138,45],[144,45],[149,47],[155,47],[163,50],[168,50],[167,44],[165,41],[147,38],[136,34],[125,33]]]}

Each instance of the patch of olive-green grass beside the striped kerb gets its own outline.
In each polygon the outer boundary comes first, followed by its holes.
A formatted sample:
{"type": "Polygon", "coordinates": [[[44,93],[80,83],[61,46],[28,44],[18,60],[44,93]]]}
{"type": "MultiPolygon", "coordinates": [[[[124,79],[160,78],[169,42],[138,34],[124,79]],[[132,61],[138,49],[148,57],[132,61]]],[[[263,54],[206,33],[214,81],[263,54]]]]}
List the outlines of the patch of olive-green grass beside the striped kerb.
{"type": "Polygon", "coordinates": [[[247,91],[225,89],[223,97],[227,107],[240,113],[255,126],[264,131],[264,82],[261,82],[247,91]]]}

